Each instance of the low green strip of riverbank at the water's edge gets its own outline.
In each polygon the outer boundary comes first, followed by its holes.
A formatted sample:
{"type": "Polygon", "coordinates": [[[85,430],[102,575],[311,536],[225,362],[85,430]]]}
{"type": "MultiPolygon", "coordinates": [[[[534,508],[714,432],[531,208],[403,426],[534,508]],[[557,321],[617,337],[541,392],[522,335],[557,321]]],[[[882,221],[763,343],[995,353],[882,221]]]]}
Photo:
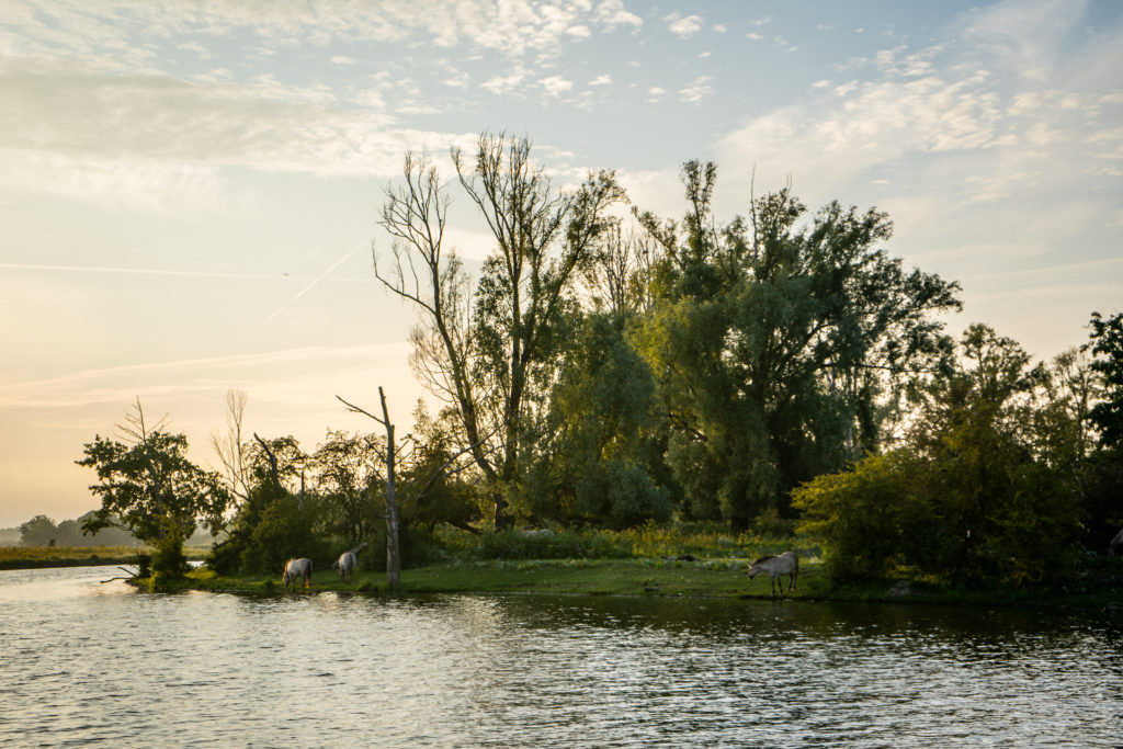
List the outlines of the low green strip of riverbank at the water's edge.
{"type": "MultiPolygon", "coordinates": [[[[740,559],[548,559],[521,561],[460,561],[404,569],[399,593],[532,593],[649,597],[763,599],[773,597],[767,575],[748,578],[740,559]]],[[[786,588],[785,578],[785,588],[786,588]]],[[[143,581],[140,581],[143,584],[143,581]]],[[[778,581],[777,581],[778,583],[778,581]]],[[[183,581],[159,585],[162,591],[195,590],[257,595],[337,592],[387,594],[384,573],[359,573],[350,583],[335,570],[313,575],[309,591],[287,593],[280,576],[216,575],[197,569],[183,581]]],[[[948,588],[917,581],[837,584],[819,559],[801,561],[796,588],[784,597],[798,601],[932,603],[1048,609],[1105,609],[1123,602],[1117,585],[1065,588],[948,588]]],[[[777,592],[777,597],[779,593],[777,592]]]]}

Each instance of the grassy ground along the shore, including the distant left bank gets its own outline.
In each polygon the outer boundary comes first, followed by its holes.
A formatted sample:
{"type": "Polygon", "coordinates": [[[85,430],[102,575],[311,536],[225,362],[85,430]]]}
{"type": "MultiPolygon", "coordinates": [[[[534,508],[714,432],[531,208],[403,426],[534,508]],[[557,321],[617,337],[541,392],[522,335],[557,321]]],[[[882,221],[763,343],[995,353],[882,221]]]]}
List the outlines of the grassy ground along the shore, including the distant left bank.
{"type": "MultiPolygon", "coordinates": [[[[769,599],[766,575],[748,578],[752,559],[795,550],[800,577],[785,595],[803,601],[924,602],[976,605],[1034,605],[1051,609],[1104,609],[1123,602],[1123,558],[1088,563],[1080,576],[1050,588],[993,585],[961,588],[933,579],[916,579],[898,570],[891,579],[838,583],[823,570],[822,551],[791,532],[733,536],[705,524],[654,524],[626,531],[560,531],[528,535],[518,531],[473,536],[446,530],[431,540],[429,564],[403,569],[400,593],[538,593],[666,597],[769,599]]],[[[202,559],[208,549],[186,549],[202,559]]],[[[0,569],[72,565],[131,564],[131,547],[6,547],[0,569]]],[[[369,554],[369,552],[368,552],[369,554]]],[[[360,561],[373,563],[373,556],[360,561]]],[[[359,572],[341,583],[327,561],[317,563],[312,592],[387,594],[381,572],[359,572]]],[[[181,581],[138,581],[150,590],[202,590],[252,595],[287,593],[280,569],[273,575],[220,576],[202,567],[181,581]]]]}

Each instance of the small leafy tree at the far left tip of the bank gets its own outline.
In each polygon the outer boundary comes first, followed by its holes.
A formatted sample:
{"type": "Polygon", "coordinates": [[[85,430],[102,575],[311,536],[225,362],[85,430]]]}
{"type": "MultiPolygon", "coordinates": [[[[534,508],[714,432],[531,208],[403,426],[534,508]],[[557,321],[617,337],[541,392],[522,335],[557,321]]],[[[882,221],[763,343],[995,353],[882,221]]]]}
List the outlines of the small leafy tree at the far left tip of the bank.
{"type": "Polygon", "coordinates": [[[90,491],[101,497],[101,509],[83,522],[83,530],[127,528],[155,549],[156,572],[180,575],[183,541],[199,521],[219,528],[230,495],[218,474],[188,459],[184,435],[163,431],[163,420],[146,423],[139,400],[118,429],[124,441],[94,436],[83,448],[85,457],[75,462],[97,472],[90,491]]]}

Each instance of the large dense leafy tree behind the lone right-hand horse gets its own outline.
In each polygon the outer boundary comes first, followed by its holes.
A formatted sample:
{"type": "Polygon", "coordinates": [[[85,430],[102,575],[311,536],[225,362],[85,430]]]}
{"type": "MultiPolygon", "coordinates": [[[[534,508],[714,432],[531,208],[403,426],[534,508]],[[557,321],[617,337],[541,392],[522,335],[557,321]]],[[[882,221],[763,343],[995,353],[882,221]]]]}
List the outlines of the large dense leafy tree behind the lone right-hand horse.
{"type": "Polygon", "coordinates": [[[640,213],[661,246],[641,351],[672,426],[667,458],[690,515],[743,528],[792,487],[877,450],[905,372],[938,347],[958,285],[905,271],[892,223],[788,189],[715,223],[713,164],[687,162],[681,222],[640,213]]]}

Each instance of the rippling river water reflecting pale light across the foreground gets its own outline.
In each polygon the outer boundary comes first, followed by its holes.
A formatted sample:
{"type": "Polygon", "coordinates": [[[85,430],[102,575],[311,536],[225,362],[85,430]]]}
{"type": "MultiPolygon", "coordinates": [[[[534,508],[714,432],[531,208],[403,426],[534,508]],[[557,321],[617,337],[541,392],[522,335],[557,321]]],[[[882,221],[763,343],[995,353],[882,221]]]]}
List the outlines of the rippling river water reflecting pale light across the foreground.
{"type": "Polygon", "coordinates": [[[0,745],[1114,746],[1116,621],[0,572],[0,745]]]}

